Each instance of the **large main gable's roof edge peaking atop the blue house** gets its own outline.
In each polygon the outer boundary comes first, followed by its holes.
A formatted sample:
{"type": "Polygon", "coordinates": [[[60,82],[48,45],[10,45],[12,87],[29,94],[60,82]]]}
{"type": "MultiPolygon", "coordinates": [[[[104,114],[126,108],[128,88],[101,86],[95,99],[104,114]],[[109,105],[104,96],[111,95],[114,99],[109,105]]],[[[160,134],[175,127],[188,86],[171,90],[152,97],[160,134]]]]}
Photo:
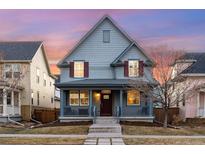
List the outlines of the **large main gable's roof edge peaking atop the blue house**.
{"type": "MultiPolygon", "coordinates": [[[[96,29],[97,27],[104,21],[108,19],[129,41],[131,44],[135,44],[141,52],[143,52],[144,55],[146,55],[143,51],[143,49],[109,16],[109,15],[104,15],[83,37],[82,39],[71,49],[71,51],[65,55],[65,57],[57,64],[58,66],[63,65],[64,60],[69,57],[77,48],[78,46],[83,43],[96,29]]],[[[148,56],[146,56],[148,57],[148,56]]],[[[150,58],[148,58],[150,59],[150,58]]],[[[152,61],[150,59],[150,61],[152,61]]],[[[153,62],[153,61],[152,61],[153,62]]],[[[64,66],[64,65],[63,65],[64,66]]]]}

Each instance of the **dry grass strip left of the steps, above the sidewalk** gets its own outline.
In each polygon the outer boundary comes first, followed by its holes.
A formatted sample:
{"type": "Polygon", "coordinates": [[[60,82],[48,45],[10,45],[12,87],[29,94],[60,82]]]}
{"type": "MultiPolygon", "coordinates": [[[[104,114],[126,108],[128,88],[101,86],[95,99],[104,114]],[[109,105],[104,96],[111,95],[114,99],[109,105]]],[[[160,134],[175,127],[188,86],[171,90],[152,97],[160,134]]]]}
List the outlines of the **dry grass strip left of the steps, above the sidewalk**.
{"type": "Polygon", "coordinates": [[[89,125],[52,126],[33,129],[0,127],[0,134],[88,134],[89,125]]]}

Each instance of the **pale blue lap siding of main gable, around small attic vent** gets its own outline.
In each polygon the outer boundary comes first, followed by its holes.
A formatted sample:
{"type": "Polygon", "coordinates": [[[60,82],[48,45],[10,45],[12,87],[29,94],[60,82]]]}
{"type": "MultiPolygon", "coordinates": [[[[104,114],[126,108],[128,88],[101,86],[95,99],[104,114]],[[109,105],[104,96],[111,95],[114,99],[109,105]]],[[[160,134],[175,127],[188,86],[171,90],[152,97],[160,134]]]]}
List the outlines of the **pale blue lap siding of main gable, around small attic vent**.
{"type": "MultiPolygon", "coordinates": [[[[67,61],[89,62],[89,78],[114,78],[110,64],[130,44],[113,25],[105,20],[68,58],[67,61]],[[103,43],[103,30],[111,30],[110,43],[103,43]]],[[[68,68],[61,69],[62,81],[70,78],[68,68]]]]}

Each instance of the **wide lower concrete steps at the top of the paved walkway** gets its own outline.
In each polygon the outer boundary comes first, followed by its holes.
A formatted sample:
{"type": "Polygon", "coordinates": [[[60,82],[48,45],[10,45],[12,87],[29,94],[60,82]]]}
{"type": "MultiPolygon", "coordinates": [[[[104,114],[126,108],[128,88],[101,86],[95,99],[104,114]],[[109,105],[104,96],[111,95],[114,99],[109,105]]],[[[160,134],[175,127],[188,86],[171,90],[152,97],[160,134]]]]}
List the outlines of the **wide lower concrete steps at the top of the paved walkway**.
{"type": "Polygon", "coordinates": [[[89,133],[121,133],[119,124],[93,124],[90,126],[89,133]]]}

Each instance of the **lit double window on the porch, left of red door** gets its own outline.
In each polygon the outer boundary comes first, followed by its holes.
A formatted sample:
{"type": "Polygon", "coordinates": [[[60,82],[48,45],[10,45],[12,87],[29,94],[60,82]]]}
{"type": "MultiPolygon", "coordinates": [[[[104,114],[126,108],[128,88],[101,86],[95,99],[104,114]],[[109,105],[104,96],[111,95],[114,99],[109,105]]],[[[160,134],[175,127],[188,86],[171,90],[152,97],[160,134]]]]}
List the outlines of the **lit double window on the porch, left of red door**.
{"type": "Polygon", "coordinates": [[[89,105],[89,92],[88,90],[71,90],[69,92],[70,106],[88,106],[89,105]]]}

